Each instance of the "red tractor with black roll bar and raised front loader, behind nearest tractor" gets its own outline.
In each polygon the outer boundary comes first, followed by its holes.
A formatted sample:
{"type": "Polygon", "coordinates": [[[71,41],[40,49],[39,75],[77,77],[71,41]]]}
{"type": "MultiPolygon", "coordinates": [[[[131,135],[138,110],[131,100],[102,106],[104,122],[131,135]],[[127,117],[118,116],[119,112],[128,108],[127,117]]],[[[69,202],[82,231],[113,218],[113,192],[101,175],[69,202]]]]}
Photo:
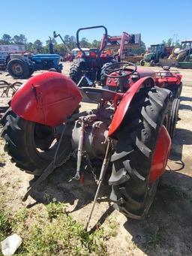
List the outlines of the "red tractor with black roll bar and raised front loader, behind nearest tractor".
{"type": "MultiPolygon", "coordinates": [[[[127,46],[138,47],[140,43],[140,36],[138,35],[128,35],[123,32],[121,36],[109,36],[107,34],[107,28],[104,26],[93,26],[88,28],[82,28],[77,30],[77,47],[80,52],[74,63],[71,65],[70,77],[74,80],[75,83],[79,83],[83,75],[92,82],[101,80],[101,68],[107,63],[107,65],[116,62],[115,55],[120,61],[123,54],[123,50],[127,46]],[[100,50],[91,48],[88,51],[83,50],[80,46],[80,32],[87,29],[104,29],[104,36],[101,40],[100,50]],[[136,38],[135,38],[136,37],[136,38]],[[139,39],[139,40],[138,40],[139,39]],[[119,49],[119,53],[113,55],[110,51],[110,48],[119,49]],[[107,48],[107,50],[105,50],[107,48]]],[[[82,83],[83,84],[83,83],[82,83]]]]}

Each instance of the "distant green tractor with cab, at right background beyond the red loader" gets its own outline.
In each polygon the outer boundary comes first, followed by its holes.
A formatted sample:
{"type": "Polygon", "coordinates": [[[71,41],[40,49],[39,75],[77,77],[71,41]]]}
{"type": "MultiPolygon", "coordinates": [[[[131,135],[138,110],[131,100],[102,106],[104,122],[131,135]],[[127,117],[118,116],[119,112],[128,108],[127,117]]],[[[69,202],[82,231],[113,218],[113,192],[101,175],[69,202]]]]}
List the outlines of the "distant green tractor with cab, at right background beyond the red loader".
{"type": "Polygon", "coordinates": [[[165,47],[164,44],[151,44],[149,53],[145,53],[144,62],[154,66],[160,59],[168,58],[174,47],[165,47]]]}

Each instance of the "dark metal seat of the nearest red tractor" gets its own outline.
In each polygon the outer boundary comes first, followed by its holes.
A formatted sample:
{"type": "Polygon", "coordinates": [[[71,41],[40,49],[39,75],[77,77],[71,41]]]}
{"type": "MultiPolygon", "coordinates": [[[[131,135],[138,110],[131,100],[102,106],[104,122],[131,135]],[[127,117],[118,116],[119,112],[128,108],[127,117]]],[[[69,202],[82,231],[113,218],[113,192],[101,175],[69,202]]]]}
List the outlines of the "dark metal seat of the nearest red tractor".
{"type": "MultiPolygon", "coordinates": [[[[115,95],[118,95],[118,92],[113,92],[107,89],[95,88],[95,87],[81,87],[79,88],[82,95],[83,101],[89,101],[99,103],[101,100],[112,101],[115,98],[115,95]]],[[[119,94],[120,95],[120,94],[119,94]]]]}

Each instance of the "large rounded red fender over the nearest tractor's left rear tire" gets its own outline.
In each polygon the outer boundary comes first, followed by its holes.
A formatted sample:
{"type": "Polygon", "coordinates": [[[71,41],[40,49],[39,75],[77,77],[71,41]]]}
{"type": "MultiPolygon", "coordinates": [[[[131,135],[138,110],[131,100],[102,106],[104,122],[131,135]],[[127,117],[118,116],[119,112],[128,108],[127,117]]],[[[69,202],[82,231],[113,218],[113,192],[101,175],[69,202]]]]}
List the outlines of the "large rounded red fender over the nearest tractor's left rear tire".
{"type": "Polygon", "coordinates": [[[80,90],[71,78],[46,72],[20,87],[13,95],[11,108],[23,119],[54,127],[65,122],[81,100],[80,90]]]}

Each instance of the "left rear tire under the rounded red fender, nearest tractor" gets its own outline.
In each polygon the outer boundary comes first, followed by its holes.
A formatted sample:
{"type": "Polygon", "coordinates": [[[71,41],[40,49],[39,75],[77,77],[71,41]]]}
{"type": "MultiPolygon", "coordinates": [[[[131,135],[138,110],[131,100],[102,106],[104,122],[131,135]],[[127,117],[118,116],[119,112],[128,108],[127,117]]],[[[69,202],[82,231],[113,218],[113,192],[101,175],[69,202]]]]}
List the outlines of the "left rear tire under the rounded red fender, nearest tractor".
{"type": "MultiPolygon", "coordinates": [[[[22,119],[20,116],[7,116],[7,122],[1,131],[5,138],[5,151],[16,162],[17,167],[27,173],[39,176],[52,161],[58,141],[53,138],[52,128],[22,119]],[[55,144],[51,146],[53,140],[55,144]]],[[[71,138],[66,137],[62,145],[62,157],[71,152],[71,138]]]]}

